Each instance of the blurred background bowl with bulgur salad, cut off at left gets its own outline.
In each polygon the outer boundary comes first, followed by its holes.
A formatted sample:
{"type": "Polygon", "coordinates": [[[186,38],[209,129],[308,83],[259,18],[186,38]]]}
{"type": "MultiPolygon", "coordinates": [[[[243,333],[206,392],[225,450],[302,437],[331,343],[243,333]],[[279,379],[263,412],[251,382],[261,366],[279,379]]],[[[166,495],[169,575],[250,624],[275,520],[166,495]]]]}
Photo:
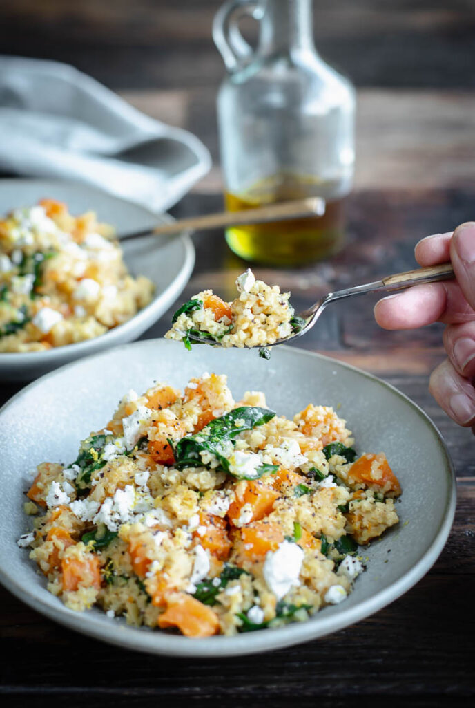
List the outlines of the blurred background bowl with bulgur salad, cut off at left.
{"type": "Polygon", "coordinates": [[[28,378],[130,341],[164,312],[193,263],[186,236],[116,235],[160,219],[85,185],[0,182],[0,375],[28,378]],[[114,224],[114,226],[112,226],[114,224]]]}

